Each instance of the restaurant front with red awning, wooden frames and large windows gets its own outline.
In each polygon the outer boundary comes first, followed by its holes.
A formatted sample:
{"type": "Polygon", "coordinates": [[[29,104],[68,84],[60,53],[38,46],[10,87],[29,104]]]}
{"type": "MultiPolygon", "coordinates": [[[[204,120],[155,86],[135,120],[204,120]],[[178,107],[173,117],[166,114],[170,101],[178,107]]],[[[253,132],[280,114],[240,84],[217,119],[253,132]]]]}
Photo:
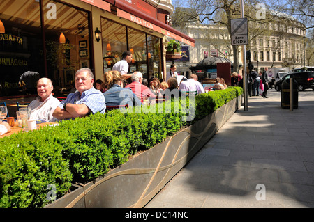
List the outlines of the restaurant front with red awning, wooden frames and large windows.
{"type": "Polygon", "coordinates": [[[167,38],[195,46],[172,12],[171,0],[0,0],[0,97],[36,94],[40,77],[70,90],[80,68],[103,80],[126,50],[130,72],[162,79],[167,38]]]}

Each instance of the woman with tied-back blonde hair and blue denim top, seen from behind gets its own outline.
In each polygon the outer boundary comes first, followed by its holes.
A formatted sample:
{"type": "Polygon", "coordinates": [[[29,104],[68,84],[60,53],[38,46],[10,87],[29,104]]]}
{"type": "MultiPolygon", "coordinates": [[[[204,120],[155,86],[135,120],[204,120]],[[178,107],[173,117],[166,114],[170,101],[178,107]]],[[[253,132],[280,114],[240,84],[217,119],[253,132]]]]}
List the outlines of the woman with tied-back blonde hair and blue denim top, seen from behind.
{"type": "MultiPolygon", "coordinates": [[[[104,74],[102,87],[108,90],[103,93],[106,106],[140,106],[141,102],[130,88],[123,88],[124,78],[118,71],[108,71],[104,74]]],[[[107,110],[110,110],[109,108],[107,110]]]]}

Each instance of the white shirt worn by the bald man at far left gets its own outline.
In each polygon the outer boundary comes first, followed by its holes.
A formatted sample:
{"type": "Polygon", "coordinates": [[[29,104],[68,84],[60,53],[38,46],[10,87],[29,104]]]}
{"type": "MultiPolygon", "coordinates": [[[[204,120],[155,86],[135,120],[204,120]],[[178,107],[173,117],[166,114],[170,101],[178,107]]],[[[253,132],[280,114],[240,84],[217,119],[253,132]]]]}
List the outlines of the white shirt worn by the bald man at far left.
{"type": "Polygon", "coordinates": [[[52,113],[54,112],[54,109],[59,106],[60,101],[53,97],[52,94],[47,97],[44,102],[41,102],[40,99],[41,98],[38,96],[36,100],[31,101],[29,104],[28,107],[31,109],[29,118],[55,122],[56,119],[52,116],[52,113]]]}

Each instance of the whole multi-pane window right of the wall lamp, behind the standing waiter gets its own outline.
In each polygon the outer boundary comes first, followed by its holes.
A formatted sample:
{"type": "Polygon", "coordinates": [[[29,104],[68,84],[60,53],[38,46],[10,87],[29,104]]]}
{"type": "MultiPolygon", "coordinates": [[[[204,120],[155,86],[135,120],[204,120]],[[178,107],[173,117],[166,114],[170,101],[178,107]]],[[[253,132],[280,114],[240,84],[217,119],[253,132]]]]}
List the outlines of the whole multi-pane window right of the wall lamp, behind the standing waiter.
{"type": "Polygon", "coordinates": [[[104,72],[112,70],[112,66],[122,59],[122,53],[128,50],[133,54],[129,72],[142,72],[148,80],[151,77],[162,78],[160,38],[103,17],[101,31],[104,72]]]}

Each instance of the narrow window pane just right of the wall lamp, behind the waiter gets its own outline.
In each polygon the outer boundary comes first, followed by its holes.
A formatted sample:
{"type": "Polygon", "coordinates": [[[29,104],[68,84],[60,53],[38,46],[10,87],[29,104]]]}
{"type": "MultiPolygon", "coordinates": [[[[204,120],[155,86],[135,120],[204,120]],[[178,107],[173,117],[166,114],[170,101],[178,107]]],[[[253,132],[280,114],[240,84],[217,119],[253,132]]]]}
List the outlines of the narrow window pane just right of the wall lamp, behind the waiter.
{"type": "Polygon", "coordinates": [[[105,73],[122,59],[122,53],[127,50],[126,26],[101,18],[101,31],[105,73]]]}

